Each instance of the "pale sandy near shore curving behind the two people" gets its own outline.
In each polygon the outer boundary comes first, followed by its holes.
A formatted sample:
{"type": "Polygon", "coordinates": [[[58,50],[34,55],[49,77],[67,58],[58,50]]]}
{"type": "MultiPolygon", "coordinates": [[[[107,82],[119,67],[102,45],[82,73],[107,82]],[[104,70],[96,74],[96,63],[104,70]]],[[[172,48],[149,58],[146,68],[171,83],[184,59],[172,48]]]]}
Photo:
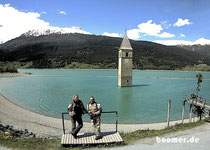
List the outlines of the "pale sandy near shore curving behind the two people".
{"type": "MultiPolygon", "coordinates": [[[[0,123],[12,125],[15,129],[27,129],[38,137],[61,137],[63,134],[62,119],[41,115],[24,109],[0,94],[0,123]]],[[[194,118],[197,121],[198,118],[194,118]]],[[[185,119],[184,123],[189,122],[185,119]]],[[[170,126],[181,123],[181,120],[171,121],[170,126]]],[[[101,131],[115,131],[115,124],[101,124],[101,131]]],[[[160,130],[167,127],[167,122],[151,124],[118,124],[119,132],[133,132],[136,130],[160,130]]],[[[71,121],[65,120],[66,133],[71,131],[71,121]]],[[[80,133],[93,132],[91,124],[83,122],[80,133]]]]}

